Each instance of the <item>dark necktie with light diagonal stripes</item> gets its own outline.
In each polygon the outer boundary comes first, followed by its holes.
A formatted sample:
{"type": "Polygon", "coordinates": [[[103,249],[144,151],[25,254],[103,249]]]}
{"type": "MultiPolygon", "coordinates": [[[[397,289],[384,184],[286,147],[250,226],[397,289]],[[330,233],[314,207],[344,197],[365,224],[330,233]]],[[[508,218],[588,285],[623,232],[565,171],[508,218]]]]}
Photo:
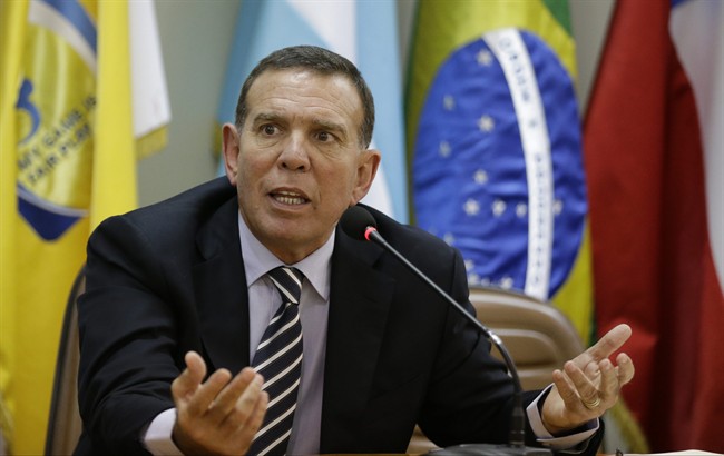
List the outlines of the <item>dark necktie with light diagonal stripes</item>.
{"type": "Polygon", "coordinates": [[[286,452],[302,375],[299,304],[304,275],[295,268],[278,267],[267,276],[282,295],[282,306],[266,327],[252,361],[264,377],[264,389],[270,396],[264,424],[248,450],[250,455],[260,456],[286,452]]]}

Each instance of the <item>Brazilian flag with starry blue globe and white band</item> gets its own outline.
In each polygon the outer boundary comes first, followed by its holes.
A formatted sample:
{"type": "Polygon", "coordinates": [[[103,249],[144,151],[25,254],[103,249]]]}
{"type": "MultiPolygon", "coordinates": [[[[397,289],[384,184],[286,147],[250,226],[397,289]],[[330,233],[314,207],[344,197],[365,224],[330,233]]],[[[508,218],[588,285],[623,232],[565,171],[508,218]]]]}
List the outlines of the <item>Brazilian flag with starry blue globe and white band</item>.
{"type": "Polygon", "coordinates": [[[593,330],[575,44],[562,1],[419,3],[405,100],[412,219],[471,286],[551,299],[593,330]]]}

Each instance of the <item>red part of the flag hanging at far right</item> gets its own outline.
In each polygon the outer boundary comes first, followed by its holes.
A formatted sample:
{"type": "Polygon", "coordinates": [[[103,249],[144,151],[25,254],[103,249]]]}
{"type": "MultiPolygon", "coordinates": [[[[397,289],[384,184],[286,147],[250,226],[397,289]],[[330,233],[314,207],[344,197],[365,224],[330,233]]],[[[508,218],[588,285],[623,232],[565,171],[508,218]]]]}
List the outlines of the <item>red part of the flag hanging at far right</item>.
{"type": "Polygon", "coordinates": [[[669,14],[668,0],[617,2],[588,108],[596,313],[600,334],[634,330],[624,396],[652,449],[724,452],[724,296],[669,14]]]}

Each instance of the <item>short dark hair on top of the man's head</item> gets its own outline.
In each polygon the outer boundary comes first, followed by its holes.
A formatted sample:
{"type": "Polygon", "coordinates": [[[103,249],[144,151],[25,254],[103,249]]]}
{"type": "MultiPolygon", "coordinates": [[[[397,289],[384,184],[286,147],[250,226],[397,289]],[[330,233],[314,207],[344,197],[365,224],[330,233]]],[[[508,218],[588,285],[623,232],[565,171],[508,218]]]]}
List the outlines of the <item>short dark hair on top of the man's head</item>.
{"type": "Polygon", "coordinates": [[[236,103],[235,122],[237,128],[244,125],[246,119],[246,97],[256,78],[265,71],[288,69],[306,69],[319,75],[340,75],[349,78],[362,100],[364,110],[364,120],[360,128],[362,147],[365,149],[370,147],[374,129],[374,100],[370,88],[354,63],[340,54],[315,46],[294,46],[280,49],[270,53],[254,67],[242,86],[242,92],[236,103]]]}

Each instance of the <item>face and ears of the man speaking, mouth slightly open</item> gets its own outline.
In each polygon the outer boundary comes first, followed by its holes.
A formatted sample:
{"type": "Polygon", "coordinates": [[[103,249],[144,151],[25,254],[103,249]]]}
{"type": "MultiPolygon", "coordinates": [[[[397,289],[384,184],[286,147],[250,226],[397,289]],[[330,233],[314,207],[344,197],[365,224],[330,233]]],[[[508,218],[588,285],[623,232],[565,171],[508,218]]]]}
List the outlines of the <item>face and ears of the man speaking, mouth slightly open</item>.
{"type": "Polygon", "coordinates": [[[254,236],[296,262],[366,195],[380,153],[361,146],[362,102],[343,76],[266,71],[246,102],[242,131],[224,126],[226,175],[254,236]]]}

